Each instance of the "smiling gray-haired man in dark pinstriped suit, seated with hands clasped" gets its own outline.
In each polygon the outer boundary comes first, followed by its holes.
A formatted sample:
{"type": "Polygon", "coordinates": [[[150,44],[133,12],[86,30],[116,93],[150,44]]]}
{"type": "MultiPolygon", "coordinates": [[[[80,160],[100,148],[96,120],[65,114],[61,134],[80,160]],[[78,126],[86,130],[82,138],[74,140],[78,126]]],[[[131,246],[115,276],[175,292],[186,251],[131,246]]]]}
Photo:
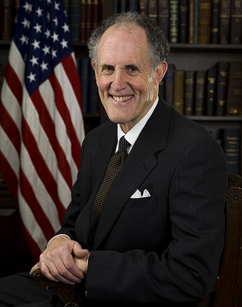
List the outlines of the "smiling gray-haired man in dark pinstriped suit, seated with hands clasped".
{"type": "Polygon", "coordinates": [[[133,12],[108,18],[89,42],[111,121],[86,136],[62,228],[31,270],[85,278],[87,306],[188,306],[217,278],[226,160],[205,129],[158,99],[168,50],[159,27],[133,12]],[[122,136],[127,157],[106,185],[122,136]]]}

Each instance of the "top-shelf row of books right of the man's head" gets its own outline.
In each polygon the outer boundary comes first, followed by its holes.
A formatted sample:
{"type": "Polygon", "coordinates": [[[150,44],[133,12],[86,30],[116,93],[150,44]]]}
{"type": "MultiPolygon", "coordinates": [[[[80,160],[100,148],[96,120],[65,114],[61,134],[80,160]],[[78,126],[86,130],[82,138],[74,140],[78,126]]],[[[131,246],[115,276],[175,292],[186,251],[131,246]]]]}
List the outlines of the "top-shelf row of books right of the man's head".
{"type": "Polygon", "coordinates": [[[241,44],[241,0],[114,1],[114,13],[127,10],[148,15],[170,43],[241,44]]]}

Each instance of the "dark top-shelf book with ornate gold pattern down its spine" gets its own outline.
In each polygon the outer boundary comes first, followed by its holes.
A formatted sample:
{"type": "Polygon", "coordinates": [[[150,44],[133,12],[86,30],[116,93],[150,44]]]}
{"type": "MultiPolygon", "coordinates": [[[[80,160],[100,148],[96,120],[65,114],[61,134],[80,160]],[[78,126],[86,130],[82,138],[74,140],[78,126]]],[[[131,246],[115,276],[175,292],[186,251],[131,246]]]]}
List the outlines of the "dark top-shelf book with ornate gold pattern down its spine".
{"type": "Polygon", "coordinates": [[[169,0],[169,42],[178,43],[179,1],[169,0]]]}

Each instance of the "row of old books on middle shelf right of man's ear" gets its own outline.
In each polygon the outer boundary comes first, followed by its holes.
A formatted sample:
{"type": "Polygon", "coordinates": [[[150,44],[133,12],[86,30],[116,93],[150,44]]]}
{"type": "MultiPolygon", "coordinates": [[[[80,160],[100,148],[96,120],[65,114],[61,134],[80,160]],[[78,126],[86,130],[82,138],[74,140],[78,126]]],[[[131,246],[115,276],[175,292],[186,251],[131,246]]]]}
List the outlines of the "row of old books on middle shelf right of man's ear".
{"type": "Polygon", "coordinates": [[[160,84],[160,95],[177,111],[191,115],[242,115],[242,62],[218,62],[208,70],[177,70],[160,84]]]}

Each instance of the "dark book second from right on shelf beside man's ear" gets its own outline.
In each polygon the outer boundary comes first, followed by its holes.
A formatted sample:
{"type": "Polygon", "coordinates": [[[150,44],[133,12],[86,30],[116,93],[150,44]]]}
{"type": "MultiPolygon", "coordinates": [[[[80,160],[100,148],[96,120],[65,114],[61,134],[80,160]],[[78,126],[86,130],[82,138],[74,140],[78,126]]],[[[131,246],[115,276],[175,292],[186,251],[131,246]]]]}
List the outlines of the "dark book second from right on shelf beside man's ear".
{"type": "Polygon", "coordinates": [[[226,113],[229,62],[218,62],[217,65],[217,101],[216,115],[223,116],[226,113]]]}

